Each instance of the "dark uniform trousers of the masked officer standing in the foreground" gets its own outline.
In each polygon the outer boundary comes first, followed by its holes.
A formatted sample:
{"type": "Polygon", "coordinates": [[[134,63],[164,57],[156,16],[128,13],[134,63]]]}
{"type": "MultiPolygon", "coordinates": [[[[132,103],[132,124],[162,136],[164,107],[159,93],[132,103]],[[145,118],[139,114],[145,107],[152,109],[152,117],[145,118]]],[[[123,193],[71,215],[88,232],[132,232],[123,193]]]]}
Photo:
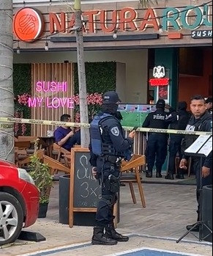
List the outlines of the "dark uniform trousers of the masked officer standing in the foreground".
{"type": "Polygon", "coordinates": [[[102,181],[102,198],[97,206],[96,213],[96,227],[108,227],[109,224],[113,224],[113,206],[116,204],[119,193],[119,167],[116,164],[111,164],[108,161],[97,160],[97,171],[102,181]],[[116,180],[116,191],[111,191],[111,181],[109,175],[113,175],[118,178],[116,180]]]}

